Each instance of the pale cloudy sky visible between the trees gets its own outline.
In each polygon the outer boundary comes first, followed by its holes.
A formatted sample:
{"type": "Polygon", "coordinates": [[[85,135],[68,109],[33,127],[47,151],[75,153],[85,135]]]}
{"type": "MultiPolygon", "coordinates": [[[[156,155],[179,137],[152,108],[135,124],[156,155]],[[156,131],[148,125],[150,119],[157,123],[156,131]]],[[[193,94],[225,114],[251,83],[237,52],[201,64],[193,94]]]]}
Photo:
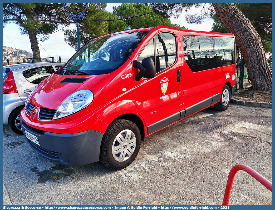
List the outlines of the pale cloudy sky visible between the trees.
{"type": "MultiPolygon", "coordinates": [[[[121,4],[122,3],[107,3],[106,11],[112,11],[114,6],[121,4]]],[[[200,8],[192,9],[188,11],[188,14],[195,14],[200,10],[200,8]]],[[[180,26],[185,26],[195,31],[211,31],[211,26],[214,23],[213,20],[205,20],[202,24],[189,24],[185,20],[185,14],[186,12],[183,11],[179,18],[171,18],[171,23],[177,23],[180,26]]],[[[62,27],[59,29],[61,28],[62,27]]],[[[70,24],[69,29],[76,29],[76,25],[70,24]]],[[[32,53],[29,37],[27,35],[21,35],[19,26],[14,23],[7,24],[7,26],[3,28],[3,46],[26,50],[32,53]]],[[[38,46],[41,57],[54,57],[56,60],[59,56],[61,59],[68,60],[75,53],[75,49],[64,41],[62,30],[49,35],[49,39],[45,42],[38,40],[38,46]]]]}

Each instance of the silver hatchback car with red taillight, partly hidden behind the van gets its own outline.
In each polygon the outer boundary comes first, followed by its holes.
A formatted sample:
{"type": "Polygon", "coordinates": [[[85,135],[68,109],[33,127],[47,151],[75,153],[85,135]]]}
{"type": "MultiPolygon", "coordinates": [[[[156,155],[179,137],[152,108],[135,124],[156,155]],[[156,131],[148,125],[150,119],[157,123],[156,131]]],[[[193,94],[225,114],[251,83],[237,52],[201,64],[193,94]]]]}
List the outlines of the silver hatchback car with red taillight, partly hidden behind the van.
{"type": "Polygon", "coordinates": [[[20,111],[31,90],[50,76],[62,63],[20,63],[3,66],[3,124],[23,134],[20,111]]]}

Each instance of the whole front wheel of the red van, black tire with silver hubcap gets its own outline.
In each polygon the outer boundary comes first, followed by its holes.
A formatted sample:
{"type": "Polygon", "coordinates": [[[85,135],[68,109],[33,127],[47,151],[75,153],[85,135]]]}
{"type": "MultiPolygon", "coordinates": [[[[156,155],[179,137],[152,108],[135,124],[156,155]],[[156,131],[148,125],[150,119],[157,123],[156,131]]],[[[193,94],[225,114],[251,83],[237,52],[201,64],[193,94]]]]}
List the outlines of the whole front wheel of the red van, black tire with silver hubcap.
{"type": "Polygon", "coordinates": [[[113,170],[130,165],[138,155],[141,134],[129,120],[118,119],[107,128],[100,148],[100,162],[113,170]]]}

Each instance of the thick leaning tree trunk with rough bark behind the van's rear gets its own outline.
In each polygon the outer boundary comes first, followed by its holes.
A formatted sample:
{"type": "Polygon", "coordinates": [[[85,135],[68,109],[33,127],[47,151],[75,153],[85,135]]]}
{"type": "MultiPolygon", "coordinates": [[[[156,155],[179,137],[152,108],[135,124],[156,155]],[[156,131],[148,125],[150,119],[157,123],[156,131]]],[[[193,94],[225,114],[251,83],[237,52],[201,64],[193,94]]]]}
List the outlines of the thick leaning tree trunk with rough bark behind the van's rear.
{"type": "Polygon", "coordinates": [[[254,90],[272,87],[272,71],[261,38],[248,18],[233,3],[212,3],[218,18],[235,35],[254,90]]]}

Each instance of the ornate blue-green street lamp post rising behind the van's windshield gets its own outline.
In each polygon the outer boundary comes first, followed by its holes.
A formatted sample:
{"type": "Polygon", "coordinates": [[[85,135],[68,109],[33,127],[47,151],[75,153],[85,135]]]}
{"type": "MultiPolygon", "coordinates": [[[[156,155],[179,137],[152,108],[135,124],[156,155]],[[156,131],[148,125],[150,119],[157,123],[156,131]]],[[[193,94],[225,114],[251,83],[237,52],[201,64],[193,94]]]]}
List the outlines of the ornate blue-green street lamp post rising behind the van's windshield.
{"type": "Polygon", "coordinates": [[[77,8],[76,3],[74,4],[75,8],[73,8],[75,10],[75,13],[70,11],[71,3],[62,3],[62,4],[63,4],[63,8],[66,11],[66,14],[69,16],[69,18],[76,22],[77,45],[78,45],[78,49],[79,49],[80,48],[80,38],[79,38],[78,23],[79,23],[79,21],[82,21],[87,17],[87,12],[88,12],[90,3],[82,3],[83,7],[84,7],[84,11],[78,12],[78,13],[77,13],[77,10],[79,10],[79,9],[77,8]]]}

